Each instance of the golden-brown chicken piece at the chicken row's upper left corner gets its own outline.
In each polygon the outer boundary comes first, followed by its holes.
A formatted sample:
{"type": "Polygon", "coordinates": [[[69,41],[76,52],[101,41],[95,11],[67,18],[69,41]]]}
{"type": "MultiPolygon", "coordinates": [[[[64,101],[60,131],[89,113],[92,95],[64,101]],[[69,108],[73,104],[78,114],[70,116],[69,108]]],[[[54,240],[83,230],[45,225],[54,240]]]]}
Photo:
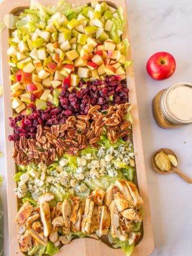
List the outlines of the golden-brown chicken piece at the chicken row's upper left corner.
{"type": "Polygon", "coordinates": [[[25,202],[19,209],[19,212],[17,212],[15,222],[18,222],[19,224],[24,225],[26,220],[28,220],[29,216],[31,215],[32,211],[33,211],[33,206],[30,204],[30,202],[29,201],[25,202]]]}

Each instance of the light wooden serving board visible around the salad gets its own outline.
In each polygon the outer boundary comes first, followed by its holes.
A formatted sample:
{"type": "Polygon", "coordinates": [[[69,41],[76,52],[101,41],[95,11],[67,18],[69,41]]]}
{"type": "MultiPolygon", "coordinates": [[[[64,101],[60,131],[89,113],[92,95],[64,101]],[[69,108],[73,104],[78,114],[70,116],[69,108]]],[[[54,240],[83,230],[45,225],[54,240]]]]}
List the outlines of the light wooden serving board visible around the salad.
{"type": "MultiPolygon", "coordinates": [[[[92,1],[92,0],[90,0],[92,1]]],[[[86,4],[90,2],[89,0],[68,0],[67,2],[74,4],[86,4]]],[[[45,6],[50,4],[56,4],[56,0],[38,0],[45,6]]],[[[124,9],[126,28],[123,34],[123,38],[129,40],[129,30],[128,30],[128,19],[126,11],[125,0],[110,0],[106,1],[107,4],[112,7],[120,7],[124,9]]],[[[7,13],[19,13],[25,8],[29,8],[30,0],[4,0],[0,4],[0,22],[3,21],[4,15],[7,13]]],[[[8,65],[8,56],[7,49],[9,31],[4,29],[1,33],[1,59],[2,59],[2,77],[3,77],[3,100],[4,100],[4,124],[5,124],[5,136],[6,136],[6,168],[7,168],[7,198],[8,198],[8,230],[9,230],[9,241],[10,241],[10,256],[15,255],[24,255],[20,252],[19,243],[17,241],[17,226],[15,223],[15,216],[17,213],[17,197],[13,192],[13,188],[16,187],[16,182],[13,180],[13,175],[15,174],[15,163],[11,158],[13,143],[8,141],[8,135],[12,134],[12,128],[8,125],[8,117],[12,116],[12,108],[10,104],[11,90],[10,85],[11,81],[10,76],[10,66],[8,65]]],[[[127,55],[127,60],[132,60],[131,50],[129,48],[129,53],[127,55]]],[[[134,144],[135,150],[135,163],[136,163],[136,176],[138,182],[139,193],[144,200],[143,205],[143,235],[140,240],[140,243],[135,246],[134,253],[132,256],[147,256],[153,252],[154,241],[153,241],[153,231],[152,231],[152,221],[150,216],[149,208],[149,198],[148,198],[148,188],[147,180],[145,175],[145,163],[143,155],[143,145],[141,140],[141,131],[140,131],[140,122],[139,122],[139,113],[138,113],[138,103],[136,99],[136,86],[134,80],[134,71],[133,67],[129,66],[126,70],[127,73],[127,85],[130,89],[129,92],[129,101],[134,104],[132,109],[132,141],[134,144]]],[[[108,245],[102,243],[101,241],[91,239],[91,238],[82,238],[75,239],[71,241],[70,244],[64,245],[60,252],[56,254],[57,256],[67,255],[67,256],[124,256],[125,253],[121,249],[113,249],[108,245]]]]}

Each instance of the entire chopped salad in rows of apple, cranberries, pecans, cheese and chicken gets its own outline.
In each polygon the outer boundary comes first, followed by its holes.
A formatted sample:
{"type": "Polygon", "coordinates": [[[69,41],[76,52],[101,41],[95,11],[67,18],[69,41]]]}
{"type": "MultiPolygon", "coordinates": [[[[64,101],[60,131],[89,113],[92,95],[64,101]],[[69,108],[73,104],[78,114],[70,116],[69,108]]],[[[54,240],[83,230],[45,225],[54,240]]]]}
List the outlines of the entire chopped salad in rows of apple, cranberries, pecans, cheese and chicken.
{"type": "Polygon", "coordinates": [[[31,1],[4,26],[21,252],[53,255],[74,238],[107,237],[130,255],[143,200],[134,184],[122,8],[31,1]]]}

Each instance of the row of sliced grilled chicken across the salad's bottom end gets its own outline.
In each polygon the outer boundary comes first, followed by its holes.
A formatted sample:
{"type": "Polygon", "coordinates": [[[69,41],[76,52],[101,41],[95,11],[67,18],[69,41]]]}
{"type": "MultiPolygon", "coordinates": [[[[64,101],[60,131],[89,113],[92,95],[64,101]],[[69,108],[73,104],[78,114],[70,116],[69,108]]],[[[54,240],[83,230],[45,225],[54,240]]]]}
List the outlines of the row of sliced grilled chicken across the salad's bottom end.
{"type": "Polygon", "coordinates": [[[134,245],[141,235],[138,223],[142,220],[143,200],[131,181],[117,180],[106,192],[96,188],[86,199],[69,196],[56,206],[49,204],[52,200],[52,193],[44,193],[35,205],[26,201],[17,213],[22,252],[33,255],[41,245],[40,250],[47,254],[54,244],[55,253],[73,237],[99,239],[106,234],[134,245]]]}

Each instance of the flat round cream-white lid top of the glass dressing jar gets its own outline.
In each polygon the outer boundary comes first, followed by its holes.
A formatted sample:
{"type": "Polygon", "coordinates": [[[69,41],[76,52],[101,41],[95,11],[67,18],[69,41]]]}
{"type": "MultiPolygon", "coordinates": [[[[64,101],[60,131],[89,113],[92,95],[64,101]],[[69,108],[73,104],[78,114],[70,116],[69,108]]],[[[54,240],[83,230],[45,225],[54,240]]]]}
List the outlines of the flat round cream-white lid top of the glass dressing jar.
{"type": "Polygon", "coordinates": [[[167,95],[167,106],[176,118],[192,121],[192,86],[175,86],[167,95]]]}

